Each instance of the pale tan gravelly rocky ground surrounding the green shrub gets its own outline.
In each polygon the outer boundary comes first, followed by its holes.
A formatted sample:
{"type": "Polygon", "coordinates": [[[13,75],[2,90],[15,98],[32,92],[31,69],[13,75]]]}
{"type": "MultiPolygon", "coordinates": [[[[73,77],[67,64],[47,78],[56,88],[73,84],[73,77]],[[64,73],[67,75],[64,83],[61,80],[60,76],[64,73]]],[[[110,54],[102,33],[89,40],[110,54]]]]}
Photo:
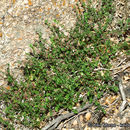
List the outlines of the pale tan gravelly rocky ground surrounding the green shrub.
{"type": "MultiPolygon", "coordinates": [[[[0,86],[7,87],[6,80],[3,77],[3,73],[7,68],[7,63],[10,63],[10,68],[15,74],[17,79],[21,78],[22,72],[18,69],[26,61],[26,53],[30,52],[30,43],[34,43],[38,39],[36,31],[42,32],[42,37],[47,39],[48,44],[49,36],[51,32],[45,26],[44,21],[48,20],[50,23],[55,24],[55,19],[60,21],[60,24],[64,25],[64,30],[69,30],[74,27],[76,22],[76,15],[74,12],[74,6],[78,2],[79,4],[84,0],[1,0],[0,1],[0,86]],[[18,64],[18,61],[21,64],[18,64]]],[[[116,13],[113,20],[113,27],[116,27],[116,22],[120,19],[126,19],[129,13],[130,2],[126,0],[114,1],[116,7],[116,13]]],[[[98,8],[100,1],[93,0],[93,6],[98,8]]],[[[77,8],[78,10],[78,8],[77,8]]],[[[82,9],[80,10],[82,12],[82,9]]],[[[66,33],[67,35],[67,33],[66,33]]],[[[125,37],[128,41],[129,35],[125,37]]],[[[119,42],[119,39],[112,37],[111,40],[119,42]]],[[[126,94],[126,99],[130,102],[130,75],[129,75],[129,57],[126,57],[120,52],[119,57],[112,61],[113,68],[119,67],[117,70],[113,70],[113,75],[122,72],[122,85],[126,94]],[[120,63],[120,65],[119,65],[120,63]],[[125,68],[126,67],[126,68],[125,68]]],[[[104,129],[101,127],[95,128],[94,126],[88,127],[88,122],[91,123],[107,123],[106,125],[114,124],[116,127],[106,127],[105,129],[128,129],[128,123],[130,123],[130,109],[129,105],[124,111],[120,112],[120,106],[122,103],[122,97],[120,93],[118,95],[106,95],[100,101],[104,107],[107,107],[107,114],[103,117],[102,113],[94,113],[93,107],[87,109],[84,112],[79,113],[73,119],[69,119],[61,123],[58,129],[62,130],[89,130],[89,129],[104,129]],[[103,117],[103,118],[102,118],[103,117]],[[126,127],[121,127],[120,124],[126,127]],[[119,126],[118,126],[119,125],[119,126]]],[[[80,104],[77,104],[80,106],[80,104]]],[[[4,105],[1,103],[1,110],[4,105]]],[[[1,111],[2,113],[2,111],[1,111]]],[[[67,112],[62,112],[65,114],[67,112]]],[[[44,126],[46,122],[41,124],[44,126]]],[[[2,126],[1,126],[2,127],[2,126]]],[[[130,127],[130,124],[129,124],[130,127]]],[[[15,124],[16,129],[28,129],[24,126],[15,124]]],[[[3,129],[3,128],[1,128],[3,129]]]]}

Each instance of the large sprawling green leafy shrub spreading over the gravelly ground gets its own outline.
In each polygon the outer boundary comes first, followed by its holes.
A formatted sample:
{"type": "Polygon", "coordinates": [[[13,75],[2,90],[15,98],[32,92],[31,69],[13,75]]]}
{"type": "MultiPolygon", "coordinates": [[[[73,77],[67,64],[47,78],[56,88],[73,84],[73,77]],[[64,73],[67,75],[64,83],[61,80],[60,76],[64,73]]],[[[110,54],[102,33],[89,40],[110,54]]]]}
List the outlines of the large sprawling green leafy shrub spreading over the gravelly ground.
{"type": "Polygon", "coordinates": [[[46,49],[39,33],[39,41],[31,45],[33,53],[24,67],[24,81],[18,83],[10,69],[7,70],[11,88],[3,90],[0,97],[7,106],[7,118],[28,127],[39,127],[53,112],[73,111],[76,103],[92,103],[94,98],[97,108],[103,110],[98,99],[105,92],[118,91],[109,71],[109,62],[115,58],[118,48],[110,41],[107,30],[114,13],[112,0],[102,0],[102,3],[98,11],[83,4],[84,12],[78,15],[69,36],[46,21],[53,32],[52,44],[46,49]]]}

